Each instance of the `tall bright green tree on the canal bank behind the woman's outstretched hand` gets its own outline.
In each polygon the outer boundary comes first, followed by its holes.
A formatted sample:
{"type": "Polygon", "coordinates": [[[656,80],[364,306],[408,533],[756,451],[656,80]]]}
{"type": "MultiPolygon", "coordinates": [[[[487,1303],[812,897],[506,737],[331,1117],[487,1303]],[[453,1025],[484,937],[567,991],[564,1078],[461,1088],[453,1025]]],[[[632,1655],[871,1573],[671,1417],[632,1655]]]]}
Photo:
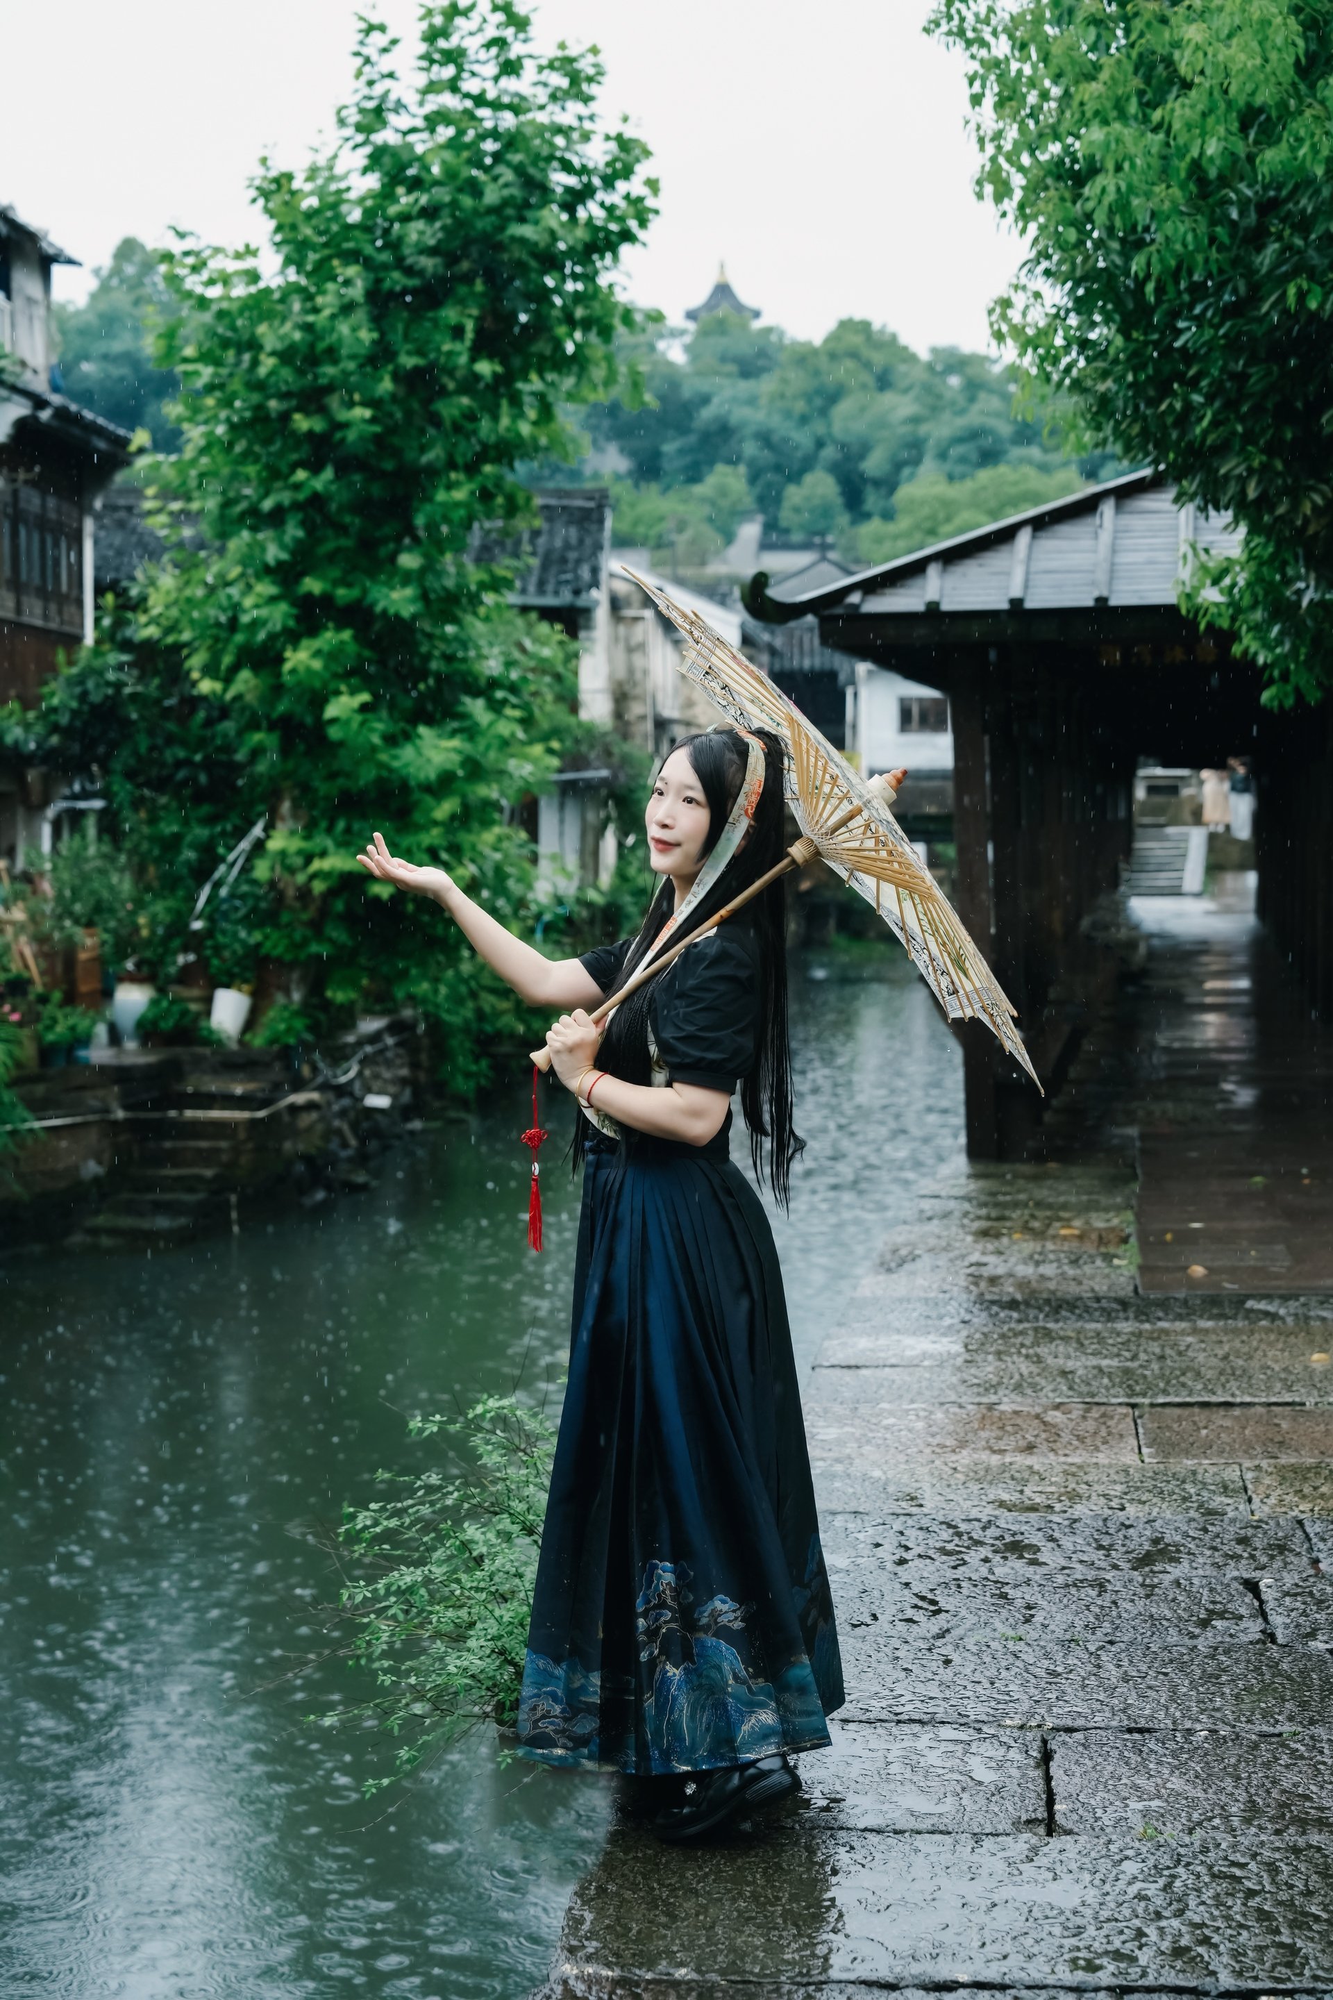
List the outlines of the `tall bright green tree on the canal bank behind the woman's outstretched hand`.
{"type": "Polygon", "coordinates": [[[598,122],[600,78],[538,54],[510,0],[426,6],[412,82],[362,24],[334,148],[256,178],[272,256],[164,260],[182,448],[150,490],[172,548],[32,724],[106,772],[164,930],[266,814],[254,932],[288,998],[414,1002],[464,1086],[514,1002],[356,850],[380,828],[528,912],[518,806],[580,736],[576,652],[468,550],[526,518],[516,466],[566,446],[562,410],[606,394],[630,322],[608,278],[652,184],[598,122]]]}

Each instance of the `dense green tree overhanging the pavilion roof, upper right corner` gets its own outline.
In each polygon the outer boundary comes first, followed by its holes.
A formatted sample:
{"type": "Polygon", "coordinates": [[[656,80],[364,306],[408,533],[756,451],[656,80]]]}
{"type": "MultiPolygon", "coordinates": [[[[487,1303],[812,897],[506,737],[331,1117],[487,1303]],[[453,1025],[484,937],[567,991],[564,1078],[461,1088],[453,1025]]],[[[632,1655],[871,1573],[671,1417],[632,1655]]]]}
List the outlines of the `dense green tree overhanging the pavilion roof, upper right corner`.
{"type": "Polygon", "coordinates": [[[993,324],[1087,434],[1245,526],[1195,606],[1333,676],[1333,6],[939,0],[979,186],[1029,242],[993,324]]]}

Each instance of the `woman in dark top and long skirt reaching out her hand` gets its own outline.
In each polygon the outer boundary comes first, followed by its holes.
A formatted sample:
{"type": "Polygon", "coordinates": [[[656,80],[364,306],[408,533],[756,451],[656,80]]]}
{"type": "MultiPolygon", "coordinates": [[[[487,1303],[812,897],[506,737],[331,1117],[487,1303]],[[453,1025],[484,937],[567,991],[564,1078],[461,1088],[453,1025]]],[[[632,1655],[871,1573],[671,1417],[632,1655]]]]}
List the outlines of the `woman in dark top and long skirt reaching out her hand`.
{"type": "Polygon", "coordinates": [[[578,1100],[574,1348],[528,1640],[520,1748],[646,1786],[666,1840],[795,1790],[827,1744],[841,1662],[773,1234],[727,1158],[739,1084],[755,1168],[787,1200],[783,884],[709,918],[783,852],[781,746],[679,742],[648,800],[662,878],[638,938],[552,962],[438,868],[362,864],[434,896],[528,1002],[578,1100]],[[608,1020],[654,950],[685,952],[608,1020]]]}

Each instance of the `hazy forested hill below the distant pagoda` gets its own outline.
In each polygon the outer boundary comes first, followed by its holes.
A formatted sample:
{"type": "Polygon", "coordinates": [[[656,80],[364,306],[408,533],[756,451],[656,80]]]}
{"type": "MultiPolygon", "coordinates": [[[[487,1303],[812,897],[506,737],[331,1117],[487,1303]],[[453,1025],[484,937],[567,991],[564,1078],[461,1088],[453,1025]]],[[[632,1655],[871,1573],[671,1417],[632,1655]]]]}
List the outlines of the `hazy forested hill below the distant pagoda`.
{"type": "Polygon", "coordinates": [[[580,412],[596,466],[614,470],[616,538],[705,562],[749,512],[767,532],[879,562],[1101,478],[1043,424],[1015,414],[1009,372],[985,354],[915,354],[869,320],[823,340],[737,314],[687,342],[652,328],[626,348],[634,394],[580,412]]]}

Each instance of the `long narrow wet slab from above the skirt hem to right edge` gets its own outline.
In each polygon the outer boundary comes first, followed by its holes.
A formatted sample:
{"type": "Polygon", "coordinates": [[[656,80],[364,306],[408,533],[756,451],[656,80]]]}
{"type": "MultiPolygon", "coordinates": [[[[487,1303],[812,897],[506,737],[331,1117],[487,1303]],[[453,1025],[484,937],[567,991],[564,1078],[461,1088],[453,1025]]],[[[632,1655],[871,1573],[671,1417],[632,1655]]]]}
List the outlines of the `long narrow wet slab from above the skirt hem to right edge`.
{"type": "Polygon", "coordinates": [[[1333,1658],[1297,1646],[965,1646],[879,1626],[839,1632],[845,1722],[1013,1728],[1333,1726],[1333,1658]]]}

